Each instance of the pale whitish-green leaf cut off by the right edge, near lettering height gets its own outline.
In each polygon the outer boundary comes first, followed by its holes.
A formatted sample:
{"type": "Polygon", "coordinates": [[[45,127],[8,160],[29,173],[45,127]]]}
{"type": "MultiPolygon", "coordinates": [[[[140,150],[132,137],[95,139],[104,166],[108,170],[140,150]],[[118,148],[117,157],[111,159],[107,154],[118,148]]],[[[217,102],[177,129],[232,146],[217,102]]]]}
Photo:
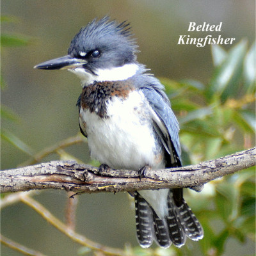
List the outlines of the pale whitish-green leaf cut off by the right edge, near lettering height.
{"type": "Polygon", "coordinates": [[[256,43],[252,45],[250,50],[245,56],[244,59],[244,86],[247,88],[247,93],[252,93],[255,90],[255,81],[256,81],[256,43]]]}

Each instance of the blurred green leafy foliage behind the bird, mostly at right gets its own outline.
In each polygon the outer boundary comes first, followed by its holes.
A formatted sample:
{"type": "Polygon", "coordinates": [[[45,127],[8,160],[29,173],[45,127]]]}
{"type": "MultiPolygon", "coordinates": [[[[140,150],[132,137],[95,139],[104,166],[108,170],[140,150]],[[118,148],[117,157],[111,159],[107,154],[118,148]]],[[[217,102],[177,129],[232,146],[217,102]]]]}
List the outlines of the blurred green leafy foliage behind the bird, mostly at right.
{"type": "MultiPolygon", "coordinates": [[[[8,17],[1,19],[10,21],[8,17]]],[[[27,43],[26,36],[2,35],[3,46],[27,43]]],[[[241,40],[229,51],[213,45],[212,60],[214,71],[207,85],[194,80],[161,79],[179,118],[184,165],[252,147],[255,141],[255,44],[248,49],[246,40],[241,40]]],[[[10,109],[2,107],[1,114],[4,120],[18,120],[10,109]]],[[[2,138],[33,156],[33,150],[9,131],[3,130],[2,138]]],[[[56,150],[62,158],[76,158],[67,154],[63,147],[66,146],[50,147],[51,150],[48,153],[43,150],[41,156],[56,150]]],[[[33,160],[41,161],[42,157],[34,156],[33,160]]],[[[230,237],[238,243],[255,239],[255,172],[252,168],[211,182],[202,193],[195,196],[191,192],[188,199],[205,231],[204,239],[198,243],[198,255],[223,255],[230,237]]],[[[188,243],[181,249],[171,246],[168,250],[127,246],[125,251],[143,256],[195,255],[194,244],[188,243]]],[[[78,253],[88,252],[91,250],[82,248],[78,253]]]]}

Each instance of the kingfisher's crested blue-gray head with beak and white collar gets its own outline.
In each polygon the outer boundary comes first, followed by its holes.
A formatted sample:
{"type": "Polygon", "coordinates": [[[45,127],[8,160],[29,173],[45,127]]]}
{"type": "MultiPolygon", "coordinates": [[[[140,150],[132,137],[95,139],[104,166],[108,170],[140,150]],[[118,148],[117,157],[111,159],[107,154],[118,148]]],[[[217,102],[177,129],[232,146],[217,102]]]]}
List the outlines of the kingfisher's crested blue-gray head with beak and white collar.
{"type": "Polygon", "coordinates": [[[140,69],[137,48],[130,24],[119,24],[106,16],[81,28],[70,43],[67,56],[45,61],[35,68],[67,69],[81,79],[83,86],[94,81],[124,80],[140,69]]]}

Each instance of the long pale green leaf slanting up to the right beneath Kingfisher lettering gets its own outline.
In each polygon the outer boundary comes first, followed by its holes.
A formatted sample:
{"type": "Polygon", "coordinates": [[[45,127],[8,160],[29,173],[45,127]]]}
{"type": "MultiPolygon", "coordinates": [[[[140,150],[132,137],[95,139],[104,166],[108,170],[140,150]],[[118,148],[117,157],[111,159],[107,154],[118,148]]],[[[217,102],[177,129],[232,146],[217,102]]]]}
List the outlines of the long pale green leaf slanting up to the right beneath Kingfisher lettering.
{"type": "Polygon", "coordinates": [[[210,82],[209,91],[207,92],[208,99],[211,99],[215,93],[220,97],[229,86],[232,87],[225,93],[225,97],[227,98],[227,95],[234,95],[239,82],[238,78],[243,70],[246,45],[246,40],[241,40],[239,44],[230,49],[225,60],[216,68],[210,82]]]}

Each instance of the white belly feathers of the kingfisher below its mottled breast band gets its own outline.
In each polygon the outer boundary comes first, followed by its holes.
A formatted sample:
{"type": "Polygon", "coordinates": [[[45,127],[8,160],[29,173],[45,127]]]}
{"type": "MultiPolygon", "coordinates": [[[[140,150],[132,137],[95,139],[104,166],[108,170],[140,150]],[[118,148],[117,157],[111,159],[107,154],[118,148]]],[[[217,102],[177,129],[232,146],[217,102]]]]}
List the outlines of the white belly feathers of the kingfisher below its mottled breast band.
{"type": "Polygon", "coordinates": [[[81,109],[91,156],[116,169],[164,167],[163,147],[154,136],[147,104],[143,94],[134,91],[127,99],[109,100],[108,118],[81,109]]]}

